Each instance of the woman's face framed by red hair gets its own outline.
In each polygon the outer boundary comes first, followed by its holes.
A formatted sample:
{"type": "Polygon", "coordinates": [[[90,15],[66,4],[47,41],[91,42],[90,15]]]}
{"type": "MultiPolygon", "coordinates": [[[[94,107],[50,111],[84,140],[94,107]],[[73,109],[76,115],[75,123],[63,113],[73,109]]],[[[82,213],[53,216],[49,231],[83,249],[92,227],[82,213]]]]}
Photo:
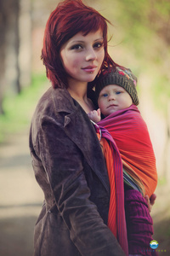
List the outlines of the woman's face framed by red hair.
{"type": "Polygon", "coordinates": [[[60,49],[60,57],[68,74],[68,81],[91,82],[99,73],[105,57],[103,32],[78,32],[60,49]]]}

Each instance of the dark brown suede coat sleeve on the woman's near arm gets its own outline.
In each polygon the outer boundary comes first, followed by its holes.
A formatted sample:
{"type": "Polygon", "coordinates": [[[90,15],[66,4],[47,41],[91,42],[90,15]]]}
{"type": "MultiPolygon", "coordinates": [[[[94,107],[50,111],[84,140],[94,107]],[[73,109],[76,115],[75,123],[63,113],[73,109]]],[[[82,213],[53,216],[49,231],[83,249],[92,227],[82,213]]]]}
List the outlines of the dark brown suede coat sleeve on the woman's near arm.
{"type": "Polygon", "coordinates": [[[42,121],[38,137],[39,157],[77,249],[83,256],[125,255],[97,207],[89,201],[82,152],[66,136],[63,126],[47,117],[42,121]]]}

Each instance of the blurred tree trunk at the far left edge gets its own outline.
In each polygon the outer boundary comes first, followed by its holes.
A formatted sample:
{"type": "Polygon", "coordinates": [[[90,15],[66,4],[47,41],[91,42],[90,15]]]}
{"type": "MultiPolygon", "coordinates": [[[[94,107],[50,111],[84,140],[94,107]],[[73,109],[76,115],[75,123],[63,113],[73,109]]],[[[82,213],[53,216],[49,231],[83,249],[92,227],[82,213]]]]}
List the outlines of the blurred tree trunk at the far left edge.
{"type": "Polygon", "coordinates": [[[20,0],[0,1],[0,114],[6,93],[20,93],[19,68],[20,0]]]}

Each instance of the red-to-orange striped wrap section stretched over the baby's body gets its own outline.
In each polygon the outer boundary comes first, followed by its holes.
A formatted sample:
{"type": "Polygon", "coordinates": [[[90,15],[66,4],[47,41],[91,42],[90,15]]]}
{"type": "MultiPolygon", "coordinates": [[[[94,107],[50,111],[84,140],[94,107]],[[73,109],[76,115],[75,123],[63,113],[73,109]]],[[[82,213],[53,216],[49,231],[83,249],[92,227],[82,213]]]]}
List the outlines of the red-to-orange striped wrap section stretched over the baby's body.
{"type": "Polygon", "coordinates": [[[123,169],[143,195],[152,195],[156,189],[156,158],[147,126],[139,109],[129,108],[111,113],[98,125],[105,127],[113,137],[122,156],[123,169]]]}

